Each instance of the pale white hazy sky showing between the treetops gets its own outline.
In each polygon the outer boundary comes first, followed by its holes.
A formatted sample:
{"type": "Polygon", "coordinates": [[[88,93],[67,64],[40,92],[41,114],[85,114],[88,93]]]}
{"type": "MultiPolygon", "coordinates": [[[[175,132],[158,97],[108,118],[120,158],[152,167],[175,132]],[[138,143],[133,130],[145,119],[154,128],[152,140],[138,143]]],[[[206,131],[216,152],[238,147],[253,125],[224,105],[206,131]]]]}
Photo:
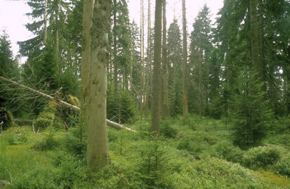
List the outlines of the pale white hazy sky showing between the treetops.
{"type": "MultiPolygon", "coordinates": [[[[151,22],[154,24],[154,2],[151,1],[151,22]]],[[[27,1],[18,0],[0,0],[0,30],[6,30],[10,36],[11,45],[14,56],[18,53],[17,41],[24,41],[31,38],[33,35],[29,33],[25,24],[31,22],[25,13],[30,12],[30,8],[26,3],[27,1]]],[[[147,31],[147,0],[144,0],[145,8],[145,31],[147,31]]],[[[192,23],[197,16],[200,9],[206,4],[209,6],[212,19],[216,18],[216,13],[223,6],[223,0],[186,0],[186,11],[187,11],[187,31],[192,31],[192,23]]],[[[135,20],[140,25],[140,0],[129,0],[129,14],[131,20],[135,20]]],[[[173,21],[174,15],[178,19],[178,24],[181,26],[181,0],[167,0],[167,27],[173,21]]],[[[145,38],[146,39],[146,38],[145,38]]]]}

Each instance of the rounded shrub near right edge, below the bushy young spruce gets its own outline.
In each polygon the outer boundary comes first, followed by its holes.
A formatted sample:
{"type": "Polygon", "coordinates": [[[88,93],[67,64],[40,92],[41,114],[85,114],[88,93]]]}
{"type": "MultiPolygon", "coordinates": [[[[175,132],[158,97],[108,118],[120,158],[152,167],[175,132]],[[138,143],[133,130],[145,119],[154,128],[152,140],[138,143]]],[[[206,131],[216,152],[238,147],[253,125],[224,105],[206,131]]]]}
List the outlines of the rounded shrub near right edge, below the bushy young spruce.
{"type": "Polygon", "coordinates": [[[284,153],[284,148],[277,145],[259,146],[244,153],[242,162],[246,167],[266,168],[277,163],[284,153]]]}

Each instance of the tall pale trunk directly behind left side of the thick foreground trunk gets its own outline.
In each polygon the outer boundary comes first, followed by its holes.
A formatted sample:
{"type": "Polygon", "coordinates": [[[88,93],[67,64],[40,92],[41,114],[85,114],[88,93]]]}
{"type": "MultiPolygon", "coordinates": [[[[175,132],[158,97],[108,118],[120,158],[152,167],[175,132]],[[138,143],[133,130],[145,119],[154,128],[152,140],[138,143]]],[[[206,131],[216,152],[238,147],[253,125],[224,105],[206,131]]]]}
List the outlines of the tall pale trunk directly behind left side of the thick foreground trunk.
{"type": "Polygon", "coordinates": [[[84,0],[83,32],[81,48],[81,122],[87,124],[88,91],[90,86],[91,65],[91,26],[93,19],[93,0],[84,0]]]}

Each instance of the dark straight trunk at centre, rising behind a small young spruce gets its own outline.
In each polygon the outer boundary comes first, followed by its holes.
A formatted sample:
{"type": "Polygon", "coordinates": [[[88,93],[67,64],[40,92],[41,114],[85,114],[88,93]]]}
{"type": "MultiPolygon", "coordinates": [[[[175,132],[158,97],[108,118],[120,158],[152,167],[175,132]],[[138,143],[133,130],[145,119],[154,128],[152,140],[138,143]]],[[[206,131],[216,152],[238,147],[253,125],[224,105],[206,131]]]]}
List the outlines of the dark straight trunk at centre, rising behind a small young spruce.
{"type": "Polygon", "coordinates": [[[159,88],[161,74],[161,50],[162,50],[162,0],[155,1],[155,23],[154,23],[154,68],[152,89],[152,119],[151,132],[154,136],[160,133],[159,112],[159,88]]]}

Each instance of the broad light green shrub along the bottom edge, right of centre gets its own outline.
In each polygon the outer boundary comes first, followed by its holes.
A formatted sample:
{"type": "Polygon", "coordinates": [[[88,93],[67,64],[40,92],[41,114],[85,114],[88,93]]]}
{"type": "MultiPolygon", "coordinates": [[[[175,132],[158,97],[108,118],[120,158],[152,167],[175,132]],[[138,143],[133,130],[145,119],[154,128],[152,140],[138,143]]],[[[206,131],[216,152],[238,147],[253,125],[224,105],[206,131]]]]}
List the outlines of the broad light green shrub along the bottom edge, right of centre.
{"type": "Polygon", "coordinates": [[[173,176],[178,188],[271,188],[253,171],[224,159],[186,162],[180,169],[173,176]]]}

